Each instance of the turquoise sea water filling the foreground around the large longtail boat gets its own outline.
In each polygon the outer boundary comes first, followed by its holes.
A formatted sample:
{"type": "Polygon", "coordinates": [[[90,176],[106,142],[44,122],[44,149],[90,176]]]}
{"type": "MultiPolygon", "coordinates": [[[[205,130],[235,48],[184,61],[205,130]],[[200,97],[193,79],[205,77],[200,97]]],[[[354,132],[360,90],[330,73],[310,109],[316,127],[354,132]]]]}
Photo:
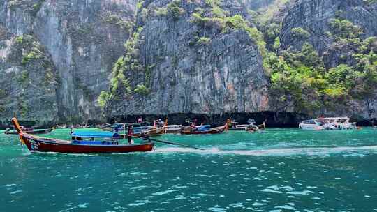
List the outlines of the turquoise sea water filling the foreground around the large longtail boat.
{"type": "Polygon", "coordinates": [[[377,211],[377,130],[160,138],[206,150],[29,153],[1,131],[0,211],[377,211]]]}

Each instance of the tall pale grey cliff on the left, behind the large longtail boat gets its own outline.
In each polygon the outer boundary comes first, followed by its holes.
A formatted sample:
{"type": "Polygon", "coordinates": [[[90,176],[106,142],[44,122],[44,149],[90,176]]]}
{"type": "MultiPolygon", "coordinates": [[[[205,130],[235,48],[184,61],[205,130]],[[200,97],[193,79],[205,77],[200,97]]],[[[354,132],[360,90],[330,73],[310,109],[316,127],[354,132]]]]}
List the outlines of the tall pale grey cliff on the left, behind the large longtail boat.
{"type": "Polygon", "coordinates": [[[0,1],[0,119],[98,119],[136,1],[0,1]]]}

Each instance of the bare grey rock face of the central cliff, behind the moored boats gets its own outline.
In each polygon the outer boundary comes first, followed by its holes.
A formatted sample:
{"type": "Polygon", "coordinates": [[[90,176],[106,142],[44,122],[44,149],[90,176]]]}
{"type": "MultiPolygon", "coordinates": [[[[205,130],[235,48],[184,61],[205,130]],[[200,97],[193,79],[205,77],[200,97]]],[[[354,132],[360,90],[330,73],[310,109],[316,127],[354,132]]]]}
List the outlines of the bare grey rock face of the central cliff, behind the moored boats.
{"type": "MultiPolygon", "coordinates": [[[[196,22],[193,13],[198,8],[204,10],[203,17],[212,18],[205,1],[179,1],[177,16],[170,14],[170,2],[145,1],[138,14],[147,15],[138,15],[139,35],[134,40],[141,68],[124,68],[131,90],[142,84],[149,93],[124,93],[110,101],[110,113],[221,114],[267,109],[268,80],[253,38],[242,29],[224,31],[216,22],[221,20],[196,22]],[[165,8],[166,14],[156,14],[165,8]]],[[[220,7],[229,16],[245,14],[237,1],[220,7]]]]}

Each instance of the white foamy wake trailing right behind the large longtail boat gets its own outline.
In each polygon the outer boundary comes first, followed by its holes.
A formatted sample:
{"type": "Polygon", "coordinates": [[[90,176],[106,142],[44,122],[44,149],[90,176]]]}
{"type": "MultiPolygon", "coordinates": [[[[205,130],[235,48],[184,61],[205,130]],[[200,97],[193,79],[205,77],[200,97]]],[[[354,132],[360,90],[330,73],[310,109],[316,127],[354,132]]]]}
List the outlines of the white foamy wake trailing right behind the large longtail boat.
{"type": "Polygon", "coordinates": [[[326,156],[336,153],[377,153],[377,146],[339,146],[339,147],[309,147],[309,148],[283,148],[283,149],[256,149],[256,150],[221,150],[218,148],[205,149],[204,151],[180,147],[158,148],[154,153],[198,153],[240,156],[326,156]]]}

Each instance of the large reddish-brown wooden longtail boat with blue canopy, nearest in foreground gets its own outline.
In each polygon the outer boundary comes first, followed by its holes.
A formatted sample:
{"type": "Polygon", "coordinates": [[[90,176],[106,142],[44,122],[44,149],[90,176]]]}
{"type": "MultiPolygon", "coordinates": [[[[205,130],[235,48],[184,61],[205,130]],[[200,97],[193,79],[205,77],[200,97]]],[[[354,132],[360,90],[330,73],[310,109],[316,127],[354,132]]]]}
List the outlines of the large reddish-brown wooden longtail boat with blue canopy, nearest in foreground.
{"type": "Polygon", "coordinates": [[[136,151],[151,151],[154,142],[146,142],[142,144],[118,144],[117,142],[92,142],[81,141],[75,137],[72,141],[64,141],[60,139],[50,139],[45,137],[37,137],[22,132],[17,119],[13,118],[12,123],[15,126],[20,141],[27,146],[29,151],[41,152],[57,152],[57,153],[129,153],[136,151]]]}

